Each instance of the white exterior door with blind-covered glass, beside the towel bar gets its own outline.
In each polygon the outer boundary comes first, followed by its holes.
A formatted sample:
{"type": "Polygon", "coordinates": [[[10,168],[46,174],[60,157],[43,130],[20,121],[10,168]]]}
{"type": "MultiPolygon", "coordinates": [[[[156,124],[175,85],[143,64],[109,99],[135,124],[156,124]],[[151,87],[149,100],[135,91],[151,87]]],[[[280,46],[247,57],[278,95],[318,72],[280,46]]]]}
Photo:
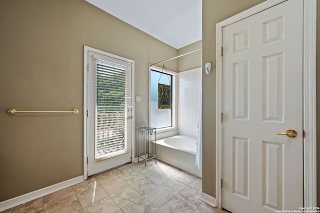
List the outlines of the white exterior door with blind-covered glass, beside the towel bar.
{"type": "Polygon", "coordinates": [[[131,161],[133,61],[87,47],[87,171],[131,161]]]}

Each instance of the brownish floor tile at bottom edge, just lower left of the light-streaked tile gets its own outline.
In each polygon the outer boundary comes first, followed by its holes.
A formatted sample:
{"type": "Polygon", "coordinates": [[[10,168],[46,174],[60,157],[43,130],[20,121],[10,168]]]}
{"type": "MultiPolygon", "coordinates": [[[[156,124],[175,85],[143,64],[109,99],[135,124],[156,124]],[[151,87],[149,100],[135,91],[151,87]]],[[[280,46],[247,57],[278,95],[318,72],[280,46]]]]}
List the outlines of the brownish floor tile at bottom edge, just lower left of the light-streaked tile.
{"type": "Polygon", "coordinates": [[[44,207],[45,213],[56,213],[56,212],[75,212],[82,209],[81,205],[76,198],[75,194],[72,197],[63,199],[53,205],[44,207]]]}

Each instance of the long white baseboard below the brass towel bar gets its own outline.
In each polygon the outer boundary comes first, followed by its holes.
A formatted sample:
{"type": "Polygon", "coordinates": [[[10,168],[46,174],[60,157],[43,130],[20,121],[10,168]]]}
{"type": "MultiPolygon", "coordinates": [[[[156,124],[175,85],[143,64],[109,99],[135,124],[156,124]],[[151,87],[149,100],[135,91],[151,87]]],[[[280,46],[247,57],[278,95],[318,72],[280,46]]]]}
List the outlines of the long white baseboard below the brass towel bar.
{"type": "Polygon", "coordinates": [[[22,194],[22,195],[17,196],[17,197],[13,197],[11,199],[7,199],[7,200],[4,200],[4,201],[1,201],[0,202],[0,211],[6,210],[8,208],[12,208],[12,207],[17,206],[19,204],[31,201],[33,199],[39,198],[41,196],[47,195],[47,194],[55,192],[55,191],[61,190],[63,188],[66,188],[66,187],[69,187],[71,185],[74,185],[74,184],[77,184],[79,182],[82,182],[83,180],[84,180],[83,179],[83,175],[81,175],[81,176],[78,176],[78,177],[74,177],[72,179],[65,180],[63,182],[56,183],[54,185],[50,185],[50,186],[47,186],[47,187],[44,187],[44,188],[40,188],[40,189],[35,190],[35,191],[31,191],[31,192],[26,193],[26,194],[22,194]]]}

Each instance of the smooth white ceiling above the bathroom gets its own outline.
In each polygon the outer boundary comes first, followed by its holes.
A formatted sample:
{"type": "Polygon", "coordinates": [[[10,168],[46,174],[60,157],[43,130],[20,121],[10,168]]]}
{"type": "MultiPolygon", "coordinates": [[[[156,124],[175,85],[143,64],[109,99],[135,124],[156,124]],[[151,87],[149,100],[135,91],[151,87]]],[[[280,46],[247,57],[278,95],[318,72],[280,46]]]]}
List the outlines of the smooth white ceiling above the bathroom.
{"type": "Polygon", "coordinates": [[[86,0],[179,49],[202,39],[202,0],[86,0]]]}

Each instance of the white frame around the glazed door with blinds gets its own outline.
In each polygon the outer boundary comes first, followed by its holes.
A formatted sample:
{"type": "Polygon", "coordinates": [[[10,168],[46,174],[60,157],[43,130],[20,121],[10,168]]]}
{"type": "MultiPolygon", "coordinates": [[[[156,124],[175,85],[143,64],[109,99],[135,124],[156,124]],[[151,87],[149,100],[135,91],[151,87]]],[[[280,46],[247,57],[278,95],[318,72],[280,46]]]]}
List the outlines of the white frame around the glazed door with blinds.
{"type": "MultiPolygon", "coordinates": [[[[88,98],[88,58],[87,58],[87,52],[88,51],[94,51],[96,53],[105,54],[106,52],[102,50],[98,50],[89,46],[83,47],[83,179],[88,178],[88,163],[87,163],[87,156],[88,156],[88,141],[87,141],[87,131],[88,131],[88,122],[87,122],[87,98],[88,98]]],[[[132,140],[131,140],[131,162],[134,162],[134,61],[115,55],[111,53],[107,53],[107,56],[117,58],[123,61],[127,61],[129,63],[132,63],[132,140]]]]}

